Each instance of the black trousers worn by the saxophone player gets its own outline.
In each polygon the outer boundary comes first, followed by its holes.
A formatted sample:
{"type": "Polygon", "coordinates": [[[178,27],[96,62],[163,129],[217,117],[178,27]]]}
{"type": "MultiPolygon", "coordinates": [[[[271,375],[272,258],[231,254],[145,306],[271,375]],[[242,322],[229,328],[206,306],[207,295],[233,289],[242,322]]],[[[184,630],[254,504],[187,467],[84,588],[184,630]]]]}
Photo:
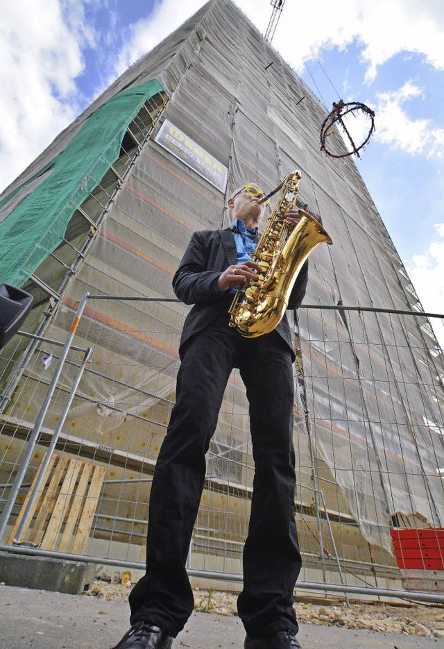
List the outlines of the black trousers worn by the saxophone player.
{"type": "Polygon", "coordinates": [[[191,337],[182,351],[176,405],[151,487],[146,575],[130,593],[131,624],[150,621],[173,637],[193,610],[185,562],[205,453],[233,367],[246,385],[255,460],[238,612],[250,637],[298,630],[292,608],[301,560],[294,520],[291,355],[277,333],[246,339],[228,328],[224,316],[191,337]]]}

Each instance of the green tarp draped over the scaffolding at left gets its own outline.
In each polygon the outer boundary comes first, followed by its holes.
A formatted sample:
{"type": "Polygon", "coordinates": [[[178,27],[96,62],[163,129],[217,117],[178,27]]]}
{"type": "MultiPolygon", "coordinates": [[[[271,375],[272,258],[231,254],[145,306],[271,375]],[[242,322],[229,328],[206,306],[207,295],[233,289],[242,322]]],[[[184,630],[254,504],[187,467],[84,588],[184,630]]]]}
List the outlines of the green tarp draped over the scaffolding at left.
{"type": "Polygon", "coordinates": [[[51,175],[0,224],[0,282],[21,286],[57,248],[75,210],[119,157],[128,124],[162,90],[155,79],[124,90],[85,121],[51,175]]]}

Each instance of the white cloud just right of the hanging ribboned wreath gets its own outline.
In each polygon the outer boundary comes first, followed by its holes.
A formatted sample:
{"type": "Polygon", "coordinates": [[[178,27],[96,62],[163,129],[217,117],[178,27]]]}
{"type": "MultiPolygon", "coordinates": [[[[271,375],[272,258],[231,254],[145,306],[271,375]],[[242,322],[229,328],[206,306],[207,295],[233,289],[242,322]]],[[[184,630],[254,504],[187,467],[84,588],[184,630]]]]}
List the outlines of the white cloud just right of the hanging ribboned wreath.
{"type": "Polygon", "coordinates": [[[407,81],[394,92],[377,93],[377,130],[375,138],[392,149],[427,158],[443,157],[444,128],[436,128],[429,119],[411,119],[404,110],[409,99],[422,97],[422,90],[407,81]]]}

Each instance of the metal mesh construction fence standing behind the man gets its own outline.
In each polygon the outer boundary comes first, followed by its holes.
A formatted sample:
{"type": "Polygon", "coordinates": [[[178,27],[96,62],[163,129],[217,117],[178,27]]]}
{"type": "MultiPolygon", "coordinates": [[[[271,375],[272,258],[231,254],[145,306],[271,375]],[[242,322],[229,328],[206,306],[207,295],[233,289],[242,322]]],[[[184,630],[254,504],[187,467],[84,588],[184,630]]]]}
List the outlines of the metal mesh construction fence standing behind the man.
{"type": "MultiPolygon", "coordinates": [[[[173,299],[89,296],[79,307],[65,298],[51,330],[65,346],[31,336],[22,361],[3,359],[3,547],[143,567],[187,310],[173,299]]],[[[424,314],[325,312],[301,308],[294,323],[300,580],[369,596],[436,592],[444,568],[441,348],[424,314]],[[409,563],[412,548],[394,538],[400,530],[418,539],[432,530],[432,555],[409,563]]],[[[248,402],[233,371],[207,455],[191,574],[241,579],[253,473],[248,402]]]]}

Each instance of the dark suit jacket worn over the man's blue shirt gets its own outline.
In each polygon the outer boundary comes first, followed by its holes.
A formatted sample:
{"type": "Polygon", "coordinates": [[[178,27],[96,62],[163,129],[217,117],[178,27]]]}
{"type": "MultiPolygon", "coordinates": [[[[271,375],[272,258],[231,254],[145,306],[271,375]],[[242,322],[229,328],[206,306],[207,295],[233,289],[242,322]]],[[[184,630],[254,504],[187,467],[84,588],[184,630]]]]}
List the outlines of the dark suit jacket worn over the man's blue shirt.
{"type": "MultiPolygon", "coordinates": [[[[232,264],[237,264],[237,248],[231,228],[203,230],[191,236],[185,255],[173,277],[173,290],[185,304],[194,304],[185,319],[180,348],[198,331],[207,327],[217,316],[226,314],[232,294],[217,294],[214,280],[232,264]]],[[[305,295],[308,261],[302,266],[289,299],[289,309],[297,309],[305,295]]],[[[275,329],[291,350],[291,332],[284,315],[275,329]]]]}

